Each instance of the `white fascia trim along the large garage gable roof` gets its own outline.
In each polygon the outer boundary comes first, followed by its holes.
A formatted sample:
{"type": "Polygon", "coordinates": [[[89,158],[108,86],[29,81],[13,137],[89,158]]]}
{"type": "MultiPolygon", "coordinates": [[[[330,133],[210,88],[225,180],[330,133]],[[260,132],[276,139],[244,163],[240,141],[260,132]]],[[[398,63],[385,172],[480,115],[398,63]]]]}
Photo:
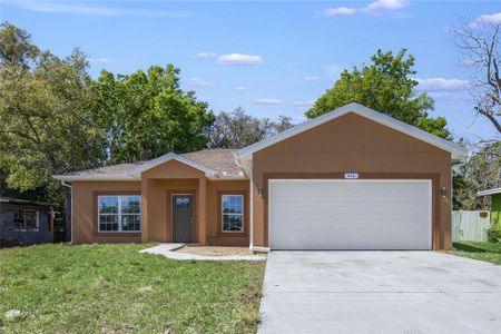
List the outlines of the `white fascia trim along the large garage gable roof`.
{"type": "Polygon", "coordinates": [[[306,130],[310,130],[314,127],[317,127],[322,124],[325,124],[330,120],[333,120],[335,118],[338,118],[343,115],[346,115],[348,112],[355,112],[362,117],[365,117],[367,119],[374,120],[381,125],[387,126],[394,130],[397,130],[400,132],[403,132],[405,135],[409,135],[411,137],[414,137],[416,139],[420,139],[422,141],[425,141],[430,145],[433,145],[438,148],[441,148],[443,150],[446,150],[451,153],[453,159],[459,159],[469,156],[470,151],[469,149],[461,147],[454,143],[451,143],[449,140],[445,140],[443,138],[436,137],[432,134],[429,134],[424,130],[421,130],[416,127],[413,127],[406,122],[400,121],[395,118],[392,118],[390,116],[386,116],[382,112],[375,111],[373,109],[370,109],[367,107],[364,107],[356,102],[351,102],[348,105],[345,105],[343,107],[340,107],[333,111],[330,111],[327,114],[324,114],[317,118],[314,118],[312,120],[307,120],[305,122],[302,122],[288,130],[285,130],[274,137],[271,137],[268,139],[262,140],[259,143],[253,144],[250,146],[244,147],[236,151],[236,157],[240,161],[243,160],[250,160],[252,155],[255,151],[262,150],[268,146],[272,146],[276,143],[279,143],[282,140],[285,140],[287,138],[291,138],[293,136],[296,136],[301,132],[304,132],[306,130]]]}

